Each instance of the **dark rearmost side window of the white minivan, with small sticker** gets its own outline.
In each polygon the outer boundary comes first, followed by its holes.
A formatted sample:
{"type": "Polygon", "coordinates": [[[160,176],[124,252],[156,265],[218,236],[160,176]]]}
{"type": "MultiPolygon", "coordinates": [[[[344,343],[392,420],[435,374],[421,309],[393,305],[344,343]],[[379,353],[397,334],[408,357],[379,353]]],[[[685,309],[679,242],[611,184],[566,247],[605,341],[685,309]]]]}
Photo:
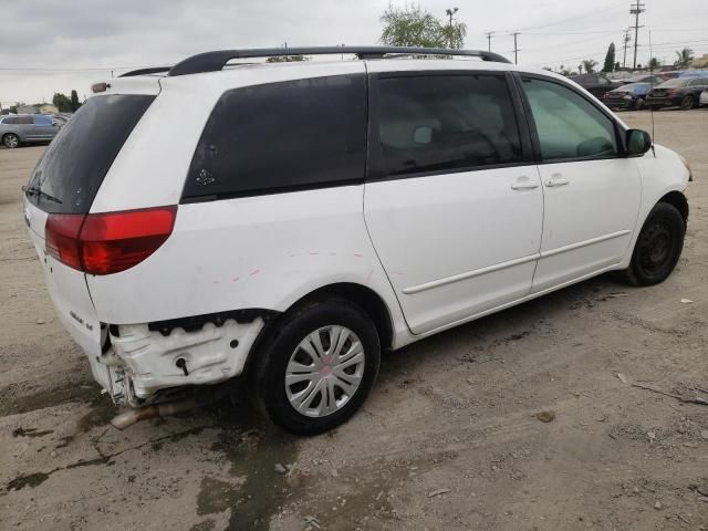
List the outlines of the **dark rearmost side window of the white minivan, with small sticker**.
{"type": "Polygon", "coordinates": [[[195,152],[183,199],[238,197],[362,181],[364,75],[226,92],[195,152]]]}

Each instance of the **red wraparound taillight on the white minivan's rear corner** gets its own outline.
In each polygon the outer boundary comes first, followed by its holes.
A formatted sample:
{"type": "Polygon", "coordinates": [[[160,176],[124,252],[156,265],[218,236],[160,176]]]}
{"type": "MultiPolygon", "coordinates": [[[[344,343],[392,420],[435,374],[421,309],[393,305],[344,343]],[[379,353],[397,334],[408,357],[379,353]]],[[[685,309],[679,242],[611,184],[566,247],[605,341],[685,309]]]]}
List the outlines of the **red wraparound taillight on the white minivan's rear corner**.
{"type": "Polygon", "coordinates": [[[46,219],[46,252],[90,274],[125,271],[169,238],[176,214],[176,206],[85,216],[52,214],[46,219]]]}

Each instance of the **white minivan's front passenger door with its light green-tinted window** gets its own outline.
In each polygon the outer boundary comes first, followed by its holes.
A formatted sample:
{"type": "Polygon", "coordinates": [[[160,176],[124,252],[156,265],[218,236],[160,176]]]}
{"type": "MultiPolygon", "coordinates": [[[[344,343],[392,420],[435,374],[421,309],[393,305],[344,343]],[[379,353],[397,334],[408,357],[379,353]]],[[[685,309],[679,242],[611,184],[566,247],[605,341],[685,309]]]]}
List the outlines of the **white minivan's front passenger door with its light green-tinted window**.
{"type": "Polygon", "coordinates": [[[524,77],[544,189],[541,258],[533,291],[618,264],[637,222],[638,168],[621,154],[614,121],[580,92],[524,77]]]}

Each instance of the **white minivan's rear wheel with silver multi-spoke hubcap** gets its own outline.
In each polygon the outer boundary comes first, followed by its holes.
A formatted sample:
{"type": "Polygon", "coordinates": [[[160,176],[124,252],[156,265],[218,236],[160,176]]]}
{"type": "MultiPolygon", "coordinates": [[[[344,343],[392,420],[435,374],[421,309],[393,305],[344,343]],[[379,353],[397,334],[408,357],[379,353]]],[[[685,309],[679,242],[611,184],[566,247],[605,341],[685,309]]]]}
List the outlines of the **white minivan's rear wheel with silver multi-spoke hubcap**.
{"type": "Polygon", "coordinates": [[[356,304],[327,298],[291,310],[274,326],[254,353],[258,408],[296,435],[348,420],[378,374],[381,342],[372,319],[356,304]]]}

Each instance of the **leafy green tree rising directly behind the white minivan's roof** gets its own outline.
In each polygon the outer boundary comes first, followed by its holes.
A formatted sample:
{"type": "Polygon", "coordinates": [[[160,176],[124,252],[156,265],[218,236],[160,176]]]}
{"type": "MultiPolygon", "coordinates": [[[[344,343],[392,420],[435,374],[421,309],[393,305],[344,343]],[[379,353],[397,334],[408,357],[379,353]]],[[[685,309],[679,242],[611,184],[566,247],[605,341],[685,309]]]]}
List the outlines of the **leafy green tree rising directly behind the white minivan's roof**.
{"type": "Polygon", "coordinates": [[[388,6],[381,17],[381,42],[392,46],[462,48],[467,25],[436,19],[420,7],[388,6]]]}

